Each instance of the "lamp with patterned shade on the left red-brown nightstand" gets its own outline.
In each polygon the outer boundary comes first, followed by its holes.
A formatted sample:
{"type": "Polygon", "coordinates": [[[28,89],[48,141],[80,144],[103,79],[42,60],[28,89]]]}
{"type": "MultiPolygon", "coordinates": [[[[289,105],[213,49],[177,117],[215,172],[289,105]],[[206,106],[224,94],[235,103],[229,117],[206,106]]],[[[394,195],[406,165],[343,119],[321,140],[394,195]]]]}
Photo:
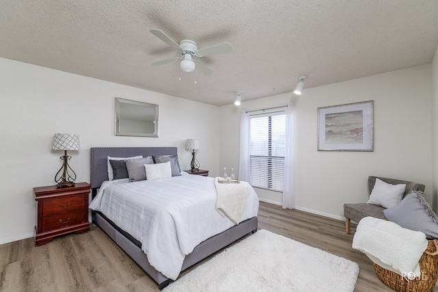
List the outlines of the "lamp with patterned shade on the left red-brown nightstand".
{"type": "Polygon", "coordinates": [[[79,150],[79,135],[56,133],[53,135],[52,149],[64,150],[64,156],[60,157],[62,167],[55,174],[56,187],[74,187],[76,174],[68,165],[71,157],[67,155],[67,150],[79,150]]]}

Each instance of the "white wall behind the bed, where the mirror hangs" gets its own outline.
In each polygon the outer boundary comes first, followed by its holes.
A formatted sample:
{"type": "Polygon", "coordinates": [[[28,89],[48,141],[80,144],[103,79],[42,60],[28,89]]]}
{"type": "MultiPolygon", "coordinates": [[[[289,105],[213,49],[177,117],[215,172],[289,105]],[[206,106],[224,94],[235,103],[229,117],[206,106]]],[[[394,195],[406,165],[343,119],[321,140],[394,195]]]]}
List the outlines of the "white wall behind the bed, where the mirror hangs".
{"type": "Polygon", "coordinates": [[[216,106],[3,58],[0,98],[0,243],[34,235],[33,187],[54,185],[62,165],[63,152],[51,150],[54,133],[80,137],[80,150],[68,152],[77,182],[90,181],[90,147],[98,146],[177,146],[189,169],[188,138],[201,144],[202,168],[218,175],[216,106]],[[159,105],[159,137],[115,136],[116,97],[159,105]]]}

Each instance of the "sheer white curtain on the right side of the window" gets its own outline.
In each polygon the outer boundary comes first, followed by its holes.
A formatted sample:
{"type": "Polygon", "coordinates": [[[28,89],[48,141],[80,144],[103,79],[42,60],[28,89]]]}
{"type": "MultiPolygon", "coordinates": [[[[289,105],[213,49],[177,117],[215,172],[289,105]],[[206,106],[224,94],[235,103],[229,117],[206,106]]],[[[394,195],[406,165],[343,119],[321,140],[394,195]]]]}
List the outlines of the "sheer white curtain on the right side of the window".
{"type": "Polygon", "coordinates": [[[294,172],[294,105],[289,103],[285,109],[286,140],[285,169],[283,172],[283,209],[295,208],[295,172],[294,172]]]}

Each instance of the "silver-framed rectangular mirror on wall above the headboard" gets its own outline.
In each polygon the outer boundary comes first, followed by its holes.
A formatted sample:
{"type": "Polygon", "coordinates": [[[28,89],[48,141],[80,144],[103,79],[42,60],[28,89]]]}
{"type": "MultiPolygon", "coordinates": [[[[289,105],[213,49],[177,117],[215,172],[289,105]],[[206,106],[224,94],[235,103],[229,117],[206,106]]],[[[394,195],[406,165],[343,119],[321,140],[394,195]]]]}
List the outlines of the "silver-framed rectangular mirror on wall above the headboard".
{"type": "Polygon", "coordinates": [[[158,137],[158,105],[116,98],[116,136],[158,137]]]}

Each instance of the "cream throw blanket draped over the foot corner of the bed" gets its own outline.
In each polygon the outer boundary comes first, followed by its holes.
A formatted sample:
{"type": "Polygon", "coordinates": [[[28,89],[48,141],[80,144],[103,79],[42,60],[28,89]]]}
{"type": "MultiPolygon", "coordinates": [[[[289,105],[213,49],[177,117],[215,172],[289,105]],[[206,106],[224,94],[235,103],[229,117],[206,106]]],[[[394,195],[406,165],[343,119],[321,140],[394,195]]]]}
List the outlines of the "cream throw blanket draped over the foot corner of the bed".
{"type": "Polygon", "coordinates": [[[234,224],[239,224],[240,218],[244,213],[246,200],[250,190],[249,183],[241,181],[240,183],[218,183],[215,178],[214,185],[218,193],[216,200],[216,210],[222,217],[229,217],[234,224]]]}

